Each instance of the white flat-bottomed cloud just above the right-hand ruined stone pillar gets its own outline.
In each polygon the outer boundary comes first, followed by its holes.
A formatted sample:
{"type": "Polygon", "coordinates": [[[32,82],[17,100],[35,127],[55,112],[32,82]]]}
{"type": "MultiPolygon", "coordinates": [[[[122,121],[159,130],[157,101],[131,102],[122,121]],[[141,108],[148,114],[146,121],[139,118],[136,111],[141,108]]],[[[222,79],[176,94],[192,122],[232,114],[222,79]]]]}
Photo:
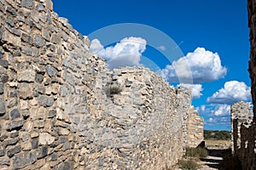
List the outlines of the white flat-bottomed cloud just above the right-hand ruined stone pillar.
{"type": "Polygon", "coordinates": [[[207,98],[212,104],[233,104],[239,101],[250,101],[251,89],[244,82],[230,81],[224,83],[224,88],[207,98]]]}

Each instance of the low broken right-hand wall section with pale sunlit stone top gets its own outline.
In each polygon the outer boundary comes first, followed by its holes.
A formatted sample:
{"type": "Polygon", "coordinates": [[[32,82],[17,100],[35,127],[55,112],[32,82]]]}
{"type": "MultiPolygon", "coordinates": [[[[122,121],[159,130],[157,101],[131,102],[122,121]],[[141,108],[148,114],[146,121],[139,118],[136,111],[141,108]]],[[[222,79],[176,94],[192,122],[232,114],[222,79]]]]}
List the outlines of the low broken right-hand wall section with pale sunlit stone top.
{"type": "Polygon", "coordinates": [[[255,126],[247,103],[231,105],[232,152],[243,169],[255,169],[255,126]]]}

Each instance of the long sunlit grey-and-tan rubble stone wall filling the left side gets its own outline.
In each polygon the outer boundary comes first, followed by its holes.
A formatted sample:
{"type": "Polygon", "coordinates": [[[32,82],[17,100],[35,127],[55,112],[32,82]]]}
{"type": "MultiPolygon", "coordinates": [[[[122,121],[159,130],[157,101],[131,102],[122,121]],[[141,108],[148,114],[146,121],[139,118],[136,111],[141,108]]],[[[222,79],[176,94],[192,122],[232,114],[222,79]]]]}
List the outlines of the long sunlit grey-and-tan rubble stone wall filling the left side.
{"type": "Polygon", "coordinates": [[[0,169],[162,169],[203,139],[186,88],[109,71],[50,0],[0,0],[0,169]]]}

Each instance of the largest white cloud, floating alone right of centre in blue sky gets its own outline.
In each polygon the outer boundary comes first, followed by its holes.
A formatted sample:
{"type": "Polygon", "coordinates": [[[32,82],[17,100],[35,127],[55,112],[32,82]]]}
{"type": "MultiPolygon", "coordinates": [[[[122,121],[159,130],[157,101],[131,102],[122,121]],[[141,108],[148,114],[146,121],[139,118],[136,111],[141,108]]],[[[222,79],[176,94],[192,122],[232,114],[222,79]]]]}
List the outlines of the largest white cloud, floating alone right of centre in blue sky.
{"type": "Polygon", "coordinates": [[[212,82],[226,75],[227,69],[221,65],[217,53],[207,51],[205,48],[196,48],[193,53],[173,61],[160,71],[160,75],[169,82],[189,80],[194,83],[212,82]]]}

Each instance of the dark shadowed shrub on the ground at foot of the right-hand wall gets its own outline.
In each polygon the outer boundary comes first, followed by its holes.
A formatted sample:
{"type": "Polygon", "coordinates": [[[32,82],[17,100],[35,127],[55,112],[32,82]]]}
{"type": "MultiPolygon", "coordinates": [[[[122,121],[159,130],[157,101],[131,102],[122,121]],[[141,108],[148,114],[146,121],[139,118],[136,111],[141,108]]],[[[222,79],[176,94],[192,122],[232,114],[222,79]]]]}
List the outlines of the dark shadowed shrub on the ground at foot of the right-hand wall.
{"type": "Polygon", "coordinates": [[[227,156],[224,156],[219,166],[222,170],[240,170],[241,162],[236,156],[232,156],[231,154],[229,154],[227,156]]]}

